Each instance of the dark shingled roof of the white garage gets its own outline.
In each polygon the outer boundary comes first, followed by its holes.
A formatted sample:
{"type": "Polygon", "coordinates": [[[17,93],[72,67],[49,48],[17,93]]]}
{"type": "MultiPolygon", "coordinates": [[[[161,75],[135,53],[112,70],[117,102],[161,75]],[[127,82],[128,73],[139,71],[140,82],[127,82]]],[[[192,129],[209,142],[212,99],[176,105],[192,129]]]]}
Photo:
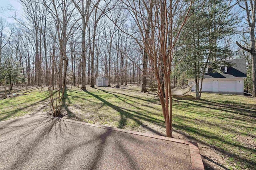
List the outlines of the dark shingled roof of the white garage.
{"type": "Polygon", "coordinates": [[[225,73],[214,72],[212,68],[208,69],[208,73],[204,74],[204,78],[237,78],[246,77],[246,60],[243,59],[233,59],[226,60],[233,64],[233,66],[228,67],[228,71],[225,73]]]}

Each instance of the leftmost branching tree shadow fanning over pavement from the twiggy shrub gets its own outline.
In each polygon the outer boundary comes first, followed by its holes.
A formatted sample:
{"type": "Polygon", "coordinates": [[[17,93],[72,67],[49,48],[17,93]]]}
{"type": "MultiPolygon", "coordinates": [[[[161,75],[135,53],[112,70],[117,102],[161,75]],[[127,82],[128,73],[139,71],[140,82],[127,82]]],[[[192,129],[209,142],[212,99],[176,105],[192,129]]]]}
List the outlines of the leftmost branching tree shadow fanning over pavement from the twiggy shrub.
{"type": "MultiPolygon", "coordinates": [[[[34,117],[34,116],[30,116],[34,117]]],[[[24,117],[20,119],[30,119],[30,117],[24,117]]],[[[20,119],[15,119],[8,121],[5,129],[8,129],[6,133],[12,133],[14,131],[21,131],[19,134],[14,135],[13,137],[7,139],[8,141],[12,141],[13,139],[18,138],[15,145],[20,145],[21,143],[26,143],[26,145],[22,145],[21,152],[17,156],[17,160],[14,164],[9,166],[9,169],[20,169],[20,165],[25,162],[29,162],[32,158],[33,152],[40,145],[43,140],[49,139],[49,134],[54,130],[55,138],[58,138],[63,134],[63,130],[66,128],[66,123],[61,119],[52,119],[38,117],[38,119],[32,119],[31,121],[27,121],[26,124],[22,125],[12,125],[12,123],[19,121],[20,119]],[[41,119],[41,120],[40,120],[41,119]],[[61,123],[63,122],[63,123],[61,123]],[[64,126],[63,126],[64,125],[64,126]],[[57,132],[58,131],[58,135],[57,132]],[[38,134],[36,138],[30,137],[33,133],[38,134]]],[[[2,130],[4,129],[2,128],[2,130]]],[[[2,133],[4,135],[4,133],[2,133]]],[[[2,143],[4,141],[1,141],[2,143]]]]}

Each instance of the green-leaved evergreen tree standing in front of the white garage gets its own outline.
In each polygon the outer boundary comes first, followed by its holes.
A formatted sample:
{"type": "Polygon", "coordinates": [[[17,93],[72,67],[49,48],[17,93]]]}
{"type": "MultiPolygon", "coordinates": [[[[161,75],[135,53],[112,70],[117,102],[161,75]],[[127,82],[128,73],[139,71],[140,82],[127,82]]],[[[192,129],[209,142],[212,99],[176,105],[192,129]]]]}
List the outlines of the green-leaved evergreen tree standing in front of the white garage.
{"type": "MultiPolygon", "coordinates": [[[[199,5],[199,4],[198,4],[199,5]]],[[[194,7],[198,8],[198,7],[194,7]]],[[[176,57],[183,57],[196,83],[196,98],[201,98],[202,81],[208,66],[218,67],[230,50],[219,45],[219,41],[234,31],[236,18],[224,0],[208,0],[200,10],[191,10],[180,39],[180,50],[176,57]]]]}

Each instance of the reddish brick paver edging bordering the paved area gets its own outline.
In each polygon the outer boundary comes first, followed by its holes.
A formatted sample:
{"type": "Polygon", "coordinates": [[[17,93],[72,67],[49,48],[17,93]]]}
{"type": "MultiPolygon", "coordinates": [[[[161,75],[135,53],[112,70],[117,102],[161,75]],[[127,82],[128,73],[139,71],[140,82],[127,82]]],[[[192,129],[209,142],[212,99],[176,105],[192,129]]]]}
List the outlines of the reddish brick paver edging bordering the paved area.
{"type": "Polygon", "coordinates": [[[82,122],[82,121],[75,121],[75,120],[72,120],[72,119],[65,119],[65,118],[61,118],[61,117],[52,117],[52,116],[46,116],[46,115],[36,115],[36,116],[47,117],[47,118],[51,118],[51,119],[61,119],[61,120],[72,122],[72,123],[78,123],[78,124],[82,124],[82,125],[88,125],[88,126],[92,126],[92,127],[99,127],[99,128],[103,128],[103,129],[108,129],[108,130],[112,130],[112,131],[130,133],[130,134],[140,135],[140,136],[144,136],[144,137],[152,137],[152,138],[156,138],[156,139],[162,139],[162,140],[165,140],[165,141],[171,141],[171,142],[186,144],[186,145],[189,146],[189,150],[190,150],[192,170],[204,170],[204,164],[203,164],[203,161],[202,161],[199,149],[198,149],[198,145],[195,142],[190,142],[190,141],[186,141],[186,140],[182,140],[182,139],[175,139],[175,138],[171,138],[171,137],[164,137],[164,136],[160,136],[160,135],[152,135],[152,134],[149,134],[149,133],[136,132],[136,131],[126,130],[126,129],[119,129],[119,128],[116,128],[116,127],[96,125],[96,124],[92,124],[92,123],[86,123],[86,122],[82,122]]]}

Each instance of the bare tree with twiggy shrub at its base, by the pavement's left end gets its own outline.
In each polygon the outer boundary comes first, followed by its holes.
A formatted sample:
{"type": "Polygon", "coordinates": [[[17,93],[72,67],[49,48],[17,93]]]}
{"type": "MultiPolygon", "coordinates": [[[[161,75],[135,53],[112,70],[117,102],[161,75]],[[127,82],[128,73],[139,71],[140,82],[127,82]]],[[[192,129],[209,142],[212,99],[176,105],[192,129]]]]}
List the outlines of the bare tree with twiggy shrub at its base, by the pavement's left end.
{"type": "MultiPolygon", "coordinates": [[[[58,76],[58,95],[54,100],[58,101],[56,103],[50,102],[52,108],[52,114],[54,116],[60,115],[60,109],[62,106],[62,99],[64,97],[64,92],[66,88],[66,76],[68,70],[68,57],[67,57],[67,43],[68,39],[74,33],[74,25],[77,20],[74,20],[74,10],[75,7],[72,6],[72,2],[69,0],[60,0],[58,2],[42,0],[42,4],[46,7],[49,14],[52,16],[57,36],[58,36],[58,46],[60,50],[60,64],[59,64],[59,76],[58,76]],[[54,104],[54,105],[53,105],[54,104]]],[[[52,88],[48,88],[50,98],[52,95],[56,94],[52,92],[52,88]]]]}

